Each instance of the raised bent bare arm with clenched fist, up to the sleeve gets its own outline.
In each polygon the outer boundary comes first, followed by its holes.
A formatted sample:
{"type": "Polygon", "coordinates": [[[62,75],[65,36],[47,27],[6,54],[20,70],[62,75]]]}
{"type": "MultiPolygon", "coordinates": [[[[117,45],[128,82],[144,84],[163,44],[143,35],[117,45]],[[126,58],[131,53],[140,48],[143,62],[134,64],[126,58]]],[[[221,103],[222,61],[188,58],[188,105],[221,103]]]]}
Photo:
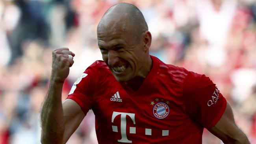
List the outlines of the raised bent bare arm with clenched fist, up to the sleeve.
{"type": "Polygon", "coordinates": [[[74,63],[68,55],[74,56],[68,48],[52,51],[50,87],[41,110],[42,144],[65,143],[85,116],[74,101],[66,100],[63,104],[61,102],[63,83],[69,75],[69,67],[74,63]]]}

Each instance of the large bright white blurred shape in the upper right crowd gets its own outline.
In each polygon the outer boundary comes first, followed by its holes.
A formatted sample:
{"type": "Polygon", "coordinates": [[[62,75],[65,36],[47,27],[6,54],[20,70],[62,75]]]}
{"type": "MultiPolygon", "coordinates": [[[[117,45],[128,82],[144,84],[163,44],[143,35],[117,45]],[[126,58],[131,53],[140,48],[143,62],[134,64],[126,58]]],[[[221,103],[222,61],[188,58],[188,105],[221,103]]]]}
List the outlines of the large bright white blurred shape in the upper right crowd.
{"type": "Polygon", "coordinates": [[[210,44],[223,45],[234,17],[236,1],[223,0],[219,11],[210,0],[203,0],[197,7],[200,32],[210,44]]]}

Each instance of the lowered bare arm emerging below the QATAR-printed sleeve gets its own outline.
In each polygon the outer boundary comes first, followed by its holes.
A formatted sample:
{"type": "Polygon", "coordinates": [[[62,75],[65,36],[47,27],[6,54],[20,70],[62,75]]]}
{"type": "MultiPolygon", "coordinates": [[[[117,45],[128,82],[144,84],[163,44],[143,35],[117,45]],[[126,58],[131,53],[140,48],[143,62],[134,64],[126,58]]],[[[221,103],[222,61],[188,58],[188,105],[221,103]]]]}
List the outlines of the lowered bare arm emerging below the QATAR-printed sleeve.
{"type": "Polygon", "coordinates": [[[229,103],[227,103],[219,122],[208,130],[216,137],[219,137],[225,144],[250,144],[245,133],[236,126],[229,103]]]}

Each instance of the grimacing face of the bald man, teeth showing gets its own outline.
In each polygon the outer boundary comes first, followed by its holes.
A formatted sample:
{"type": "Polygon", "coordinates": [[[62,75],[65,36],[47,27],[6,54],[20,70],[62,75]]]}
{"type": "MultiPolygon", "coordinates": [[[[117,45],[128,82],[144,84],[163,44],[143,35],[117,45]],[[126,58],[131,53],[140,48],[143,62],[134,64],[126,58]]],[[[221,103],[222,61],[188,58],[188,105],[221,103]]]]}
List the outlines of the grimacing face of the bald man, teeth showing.
{"type": "Polygon", "coordinates": [[[125,26],[98,28],[98,46],[102,58],[119,82],[126,82],[143,72],[143,40],[135,42],[125,26]]]}

